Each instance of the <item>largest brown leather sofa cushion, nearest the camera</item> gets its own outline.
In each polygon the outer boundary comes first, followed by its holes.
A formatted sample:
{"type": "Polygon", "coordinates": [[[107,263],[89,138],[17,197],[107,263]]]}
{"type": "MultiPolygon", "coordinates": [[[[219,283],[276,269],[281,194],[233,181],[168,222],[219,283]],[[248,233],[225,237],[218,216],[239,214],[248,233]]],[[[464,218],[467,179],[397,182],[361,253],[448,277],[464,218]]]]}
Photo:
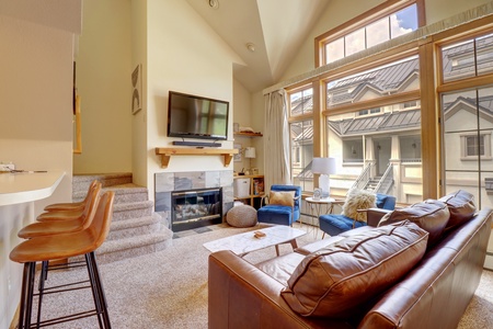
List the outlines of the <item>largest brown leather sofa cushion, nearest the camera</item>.
{"type": "Polygon", "coordinates": [[[282,296],[302,316],[351,317],[421,260],[427,237],[408,220],[349,236],[307,256],[282,296]]]}

